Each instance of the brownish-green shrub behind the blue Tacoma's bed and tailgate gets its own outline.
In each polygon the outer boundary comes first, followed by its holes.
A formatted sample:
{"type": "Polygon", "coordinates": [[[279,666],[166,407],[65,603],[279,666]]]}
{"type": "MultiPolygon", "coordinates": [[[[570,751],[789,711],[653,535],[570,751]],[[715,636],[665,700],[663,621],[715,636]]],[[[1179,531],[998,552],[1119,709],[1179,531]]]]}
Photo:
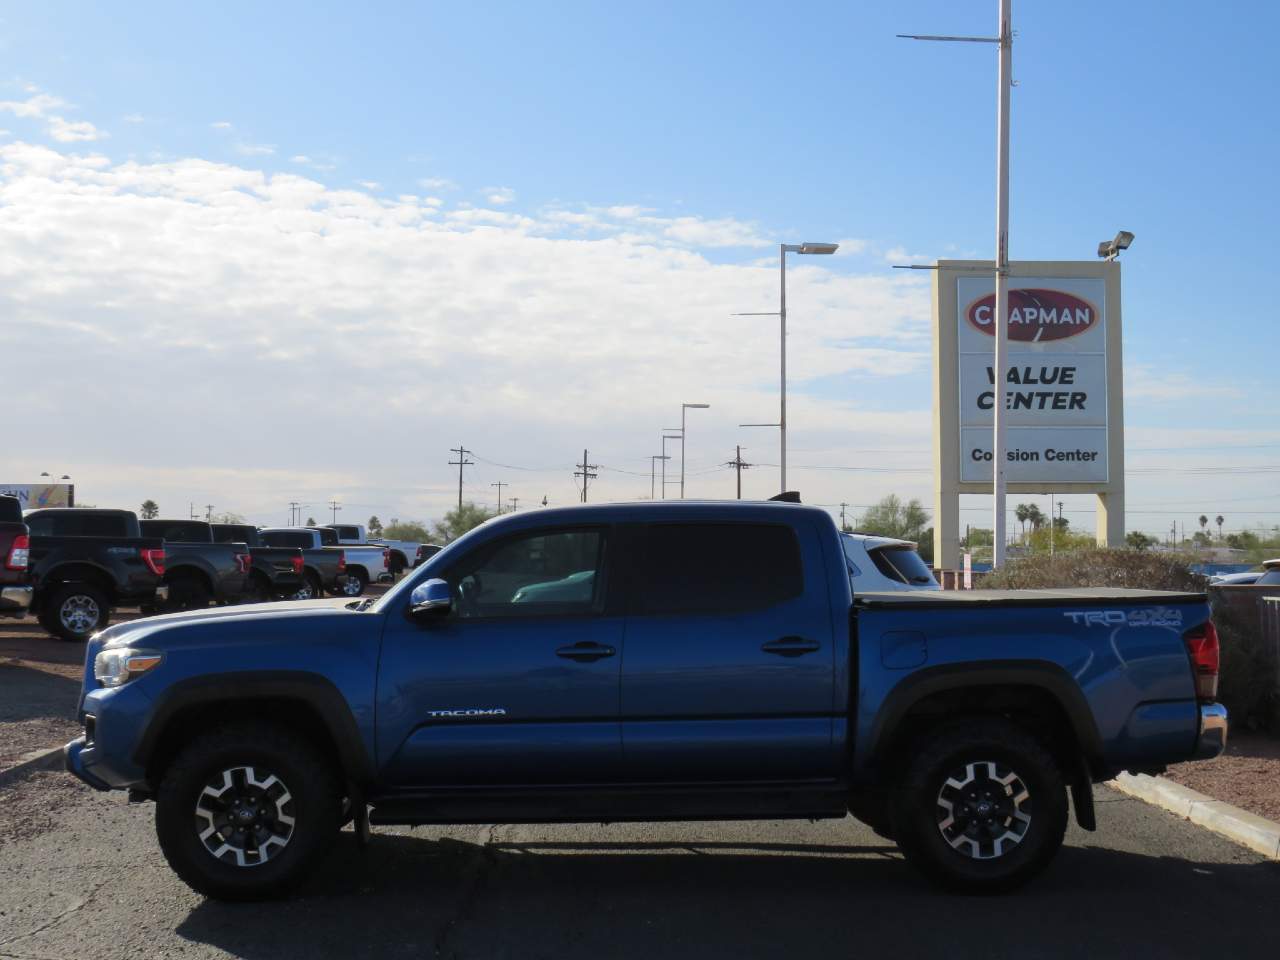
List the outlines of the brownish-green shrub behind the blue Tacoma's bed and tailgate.
{"type": "MultiPolygon", "coordinates": [[[[1076,550],[1009,562],[989,573],[983,588],[1036,590],[1071,586],[1119,586],[1138,590],[1206,593],[1208,581],[1192,572],[1190,557],[1151,550],[1076,550]]],[[[1280,728],[1276,664],[1266,652],[1256,616],[1213,603],[1213,623],[1222,648],[1219,699],[1233,723],[1254,730],[1280,728]]]]}

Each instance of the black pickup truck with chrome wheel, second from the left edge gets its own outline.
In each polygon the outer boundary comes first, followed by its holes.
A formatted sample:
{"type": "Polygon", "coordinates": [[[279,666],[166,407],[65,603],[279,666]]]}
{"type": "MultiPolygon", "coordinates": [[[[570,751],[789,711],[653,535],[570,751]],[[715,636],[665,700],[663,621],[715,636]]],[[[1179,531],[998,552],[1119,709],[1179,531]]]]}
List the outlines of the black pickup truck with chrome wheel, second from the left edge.
{"type": "Polygon", "coordinates": [[[164,540],[142,536],[127,509],[49,507],[28,511],[31,609],[64,640],[86,640],[111,609],[169,598],[164,540]]]}

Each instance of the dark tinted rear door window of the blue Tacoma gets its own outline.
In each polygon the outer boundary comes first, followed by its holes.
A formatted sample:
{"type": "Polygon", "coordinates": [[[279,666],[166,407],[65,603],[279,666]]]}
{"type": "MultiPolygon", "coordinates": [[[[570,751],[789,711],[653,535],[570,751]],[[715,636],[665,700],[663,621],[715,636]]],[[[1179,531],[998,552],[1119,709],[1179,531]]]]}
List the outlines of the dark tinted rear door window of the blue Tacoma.
{"type": "Polygon", "coordinates": [[[660,524],[637,581],[641,613],[730,613],[800,596],[804,564],[787,526],[660,524]]]}

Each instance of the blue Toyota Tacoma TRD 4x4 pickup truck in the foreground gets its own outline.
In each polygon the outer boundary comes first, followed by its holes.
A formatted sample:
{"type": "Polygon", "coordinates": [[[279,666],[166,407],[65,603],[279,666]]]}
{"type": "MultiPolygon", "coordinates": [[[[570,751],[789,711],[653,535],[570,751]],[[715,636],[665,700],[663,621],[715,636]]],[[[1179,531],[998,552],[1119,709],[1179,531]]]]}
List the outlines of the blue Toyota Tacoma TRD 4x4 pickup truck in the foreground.
{"type": "Polygon", "coordinates": [[[842,818],[929,878],[1009,890],[1091,783],[1215,756],[1198,594],[855,596],[786,503],[529,511],[379,599],[120,623],[67,767],[155,800],[195,890],[280,895],[370,823],[842,818]]]}

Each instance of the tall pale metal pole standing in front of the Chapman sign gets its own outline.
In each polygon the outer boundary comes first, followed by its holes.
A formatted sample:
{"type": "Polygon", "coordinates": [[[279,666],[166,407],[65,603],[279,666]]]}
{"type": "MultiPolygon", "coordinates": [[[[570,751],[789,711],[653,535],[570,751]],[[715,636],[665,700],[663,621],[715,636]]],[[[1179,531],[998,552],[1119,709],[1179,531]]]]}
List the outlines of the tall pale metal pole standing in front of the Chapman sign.
{"type": "Polygon", "coordinates": [[[993,472],[992,495],[992,567],[1005,563],[1005,494],[1009,479],[1005,470],[1005,430],[1007,416],[1005,398],[1009,389],[1009,88],[1012,67],[1014,31],[1010,0],[1000,1],[1000,70],[997,72],[996,122],[996,379],[995,430],[991,443],[993,472]]]}

